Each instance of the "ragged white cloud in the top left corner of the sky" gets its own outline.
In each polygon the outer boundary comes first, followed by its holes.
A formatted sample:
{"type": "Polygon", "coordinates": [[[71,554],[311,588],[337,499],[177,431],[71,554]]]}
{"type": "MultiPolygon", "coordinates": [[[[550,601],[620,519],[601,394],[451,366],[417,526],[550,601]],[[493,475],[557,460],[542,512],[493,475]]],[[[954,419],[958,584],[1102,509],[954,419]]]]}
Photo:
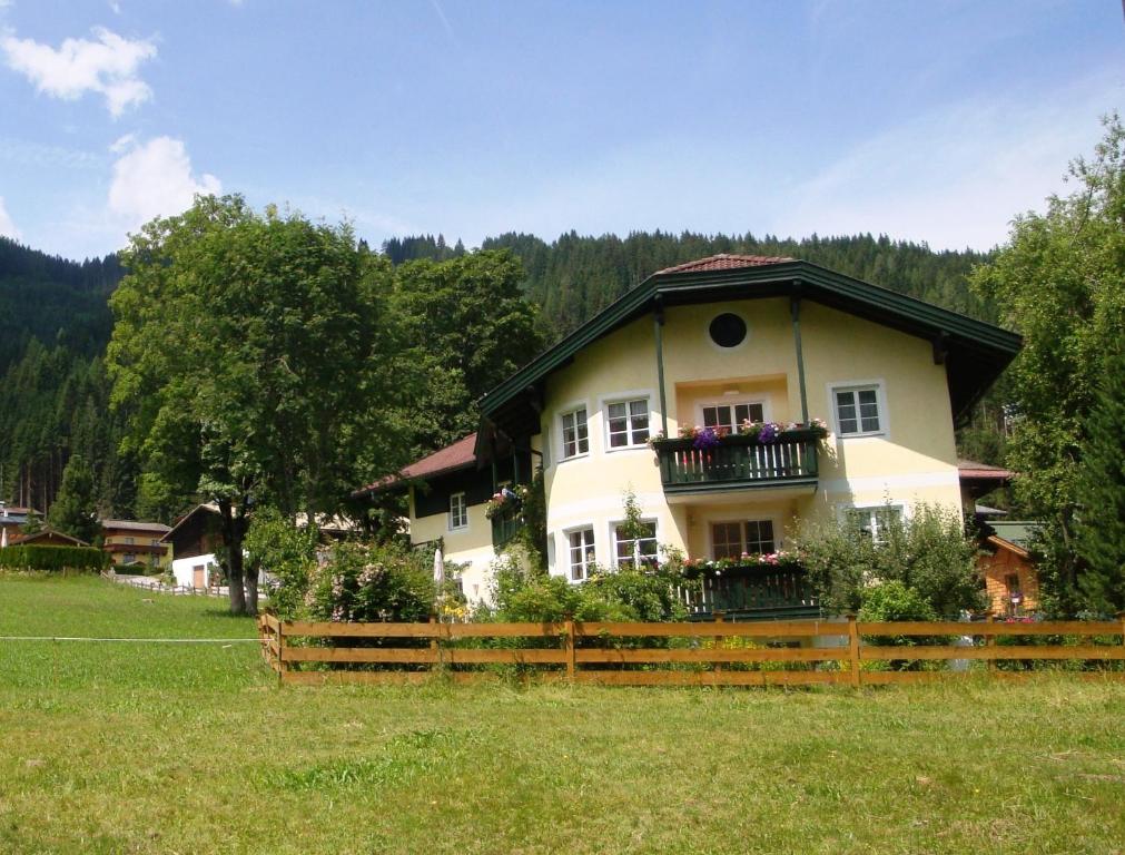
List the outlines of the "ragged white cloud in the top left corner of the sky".
{"type": "Polygon", "coordinates": [[[40,92],[73,101],[98,92],[116,118],[126,107],[152,98],[152,89],[137,75],[145,60],[156,55],[147,39],[124,38],[105,27],[94,27],[97,40],[68,38],[56,50],[32,38],[0,38],[8,65],[24,74],[40,92]]]}

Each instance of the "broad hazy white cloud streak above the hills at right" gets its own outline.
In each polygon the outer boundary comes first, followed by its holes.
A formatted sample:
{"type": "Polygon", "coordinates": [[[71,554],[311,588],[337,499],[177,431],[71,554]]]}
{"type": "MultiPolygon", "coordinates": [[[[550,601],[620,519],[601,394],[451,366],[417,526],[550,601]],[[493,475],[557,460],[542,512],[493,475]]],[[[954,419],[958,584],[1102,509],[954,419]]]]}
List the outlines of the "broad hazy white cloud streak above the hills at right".
{"type": "Polygon", "coordinates": [[[963,101],[874,135],[780,199],[778,234],[885,233],[935,249],[986,250],[1009,223],[1064,192],[1068,162],[1088,154],[1116,82],[1042,100],[963,101]]]}

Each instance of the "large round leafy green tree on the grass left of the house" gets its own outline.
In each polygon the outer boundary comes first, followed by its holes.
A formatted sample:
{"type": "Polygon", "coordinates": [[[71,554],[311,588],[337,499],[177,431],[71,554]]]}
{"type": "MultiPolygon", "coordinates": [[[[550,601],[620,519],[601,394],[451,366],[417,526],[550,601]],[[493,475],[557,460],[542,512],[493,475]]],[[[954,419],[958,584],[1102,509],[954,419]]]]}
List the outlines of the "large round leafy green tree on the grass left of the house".
{"type": "Polygon", "coordinates": [[[218,506],[231,609],[252,613],[251,508],[334,513],[402,462],[394,393],[414,374],[387,312],[389,263],[348,226],[259,215],[238,196],[148,223],[123,261],[107,363],[141,501],[218,506]]]}

